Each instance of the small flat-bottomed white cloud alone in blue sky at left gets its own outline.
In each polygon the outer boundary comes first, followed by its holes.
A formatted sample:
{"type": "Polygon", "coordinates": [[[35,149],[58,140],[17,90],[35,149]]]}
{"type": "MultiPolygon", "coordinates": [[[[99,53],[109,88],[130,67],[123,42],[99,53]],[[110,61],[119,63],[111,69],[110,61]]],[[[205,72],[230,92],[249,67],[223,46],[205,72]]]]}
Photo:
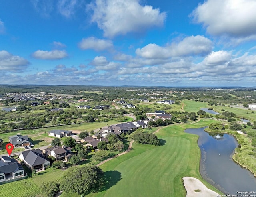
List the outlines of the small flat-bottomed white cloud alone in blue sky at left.
{"type": "Polygon", "coordinates": [[[60,50],[53,50],[53,51],[42,51],[38,50],[35,51],[32,56],[36,59],[48,59],[48,60],[54,60],[54,59],[63,59],[64,57],[67,57],[68,54],[66,51],[60,51],[60,50]]]}

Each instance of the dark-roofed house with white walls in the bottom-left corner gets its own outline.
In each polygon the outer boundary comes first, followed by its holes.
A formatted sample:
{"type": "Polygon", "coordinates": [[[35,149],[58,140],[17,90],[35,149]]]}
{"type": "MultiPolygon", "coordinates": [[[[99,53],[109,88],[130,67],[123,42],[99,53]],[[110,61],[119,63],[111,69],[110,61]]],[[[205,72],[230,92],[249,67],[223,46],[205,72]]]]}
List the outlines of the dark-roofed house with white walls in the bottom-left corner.
{"type": "Polygon", "coordinates": [[[23,167],[7,156],[0,156],[0,182],[24,177],[23,167]]]}

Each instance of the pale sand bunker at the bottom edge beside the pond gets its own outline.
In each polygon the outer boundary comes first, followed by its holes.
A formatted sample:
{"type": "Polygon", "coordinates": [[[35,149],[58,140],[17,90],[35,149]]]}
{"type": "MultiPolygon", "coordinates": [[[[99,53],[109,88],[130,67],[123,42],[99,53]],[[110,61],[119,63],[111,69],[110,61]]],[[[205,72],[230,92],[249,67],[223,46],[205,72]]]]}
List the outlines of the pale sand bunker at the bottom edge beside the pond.
{"type": "Polygon", "coordinates": [[[183,177],[186,197],[216,197],[220,196],[215,191],[208,189],[201,181],[193,177],[183,177]]]}

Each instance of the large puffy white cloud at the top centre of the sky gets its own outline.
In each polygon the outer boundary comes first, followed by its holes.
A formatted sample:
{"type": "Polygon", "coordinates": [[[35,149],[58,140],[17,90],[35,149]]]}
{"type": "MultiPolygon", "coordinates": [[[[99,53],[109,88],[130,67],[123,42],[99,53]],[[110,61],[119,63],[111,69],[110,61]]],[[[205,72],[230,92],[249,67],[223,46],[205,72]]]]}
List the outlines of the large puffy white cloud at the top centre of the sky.
{"type": "Polygon", "coordinates": [[[144,32],[153,26],[163,26],[166,13],[152,6],[142,6],[140,0],[95,0],[88,8],[92,22],[104,31],[105,37],[144,32]]]}

